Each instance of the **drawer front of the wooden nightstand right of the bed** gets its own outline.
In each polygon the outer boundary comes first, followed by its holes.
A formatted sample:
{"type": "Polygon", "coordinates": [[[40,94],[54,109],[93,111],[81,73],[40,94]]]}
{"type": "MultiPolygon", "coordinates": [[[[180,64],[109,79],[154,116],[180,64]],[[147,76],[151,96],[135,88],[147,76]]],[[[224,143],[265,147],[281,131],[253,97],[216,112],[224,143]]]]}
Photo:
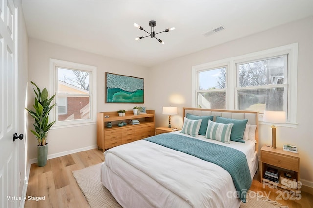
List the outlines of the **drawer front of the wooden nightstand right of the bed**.
{"type": "Polygon", "coordinates": [[[299,171],[299,160],[297,158],[262,151],[261,161],[280,168],[299,171]]]}

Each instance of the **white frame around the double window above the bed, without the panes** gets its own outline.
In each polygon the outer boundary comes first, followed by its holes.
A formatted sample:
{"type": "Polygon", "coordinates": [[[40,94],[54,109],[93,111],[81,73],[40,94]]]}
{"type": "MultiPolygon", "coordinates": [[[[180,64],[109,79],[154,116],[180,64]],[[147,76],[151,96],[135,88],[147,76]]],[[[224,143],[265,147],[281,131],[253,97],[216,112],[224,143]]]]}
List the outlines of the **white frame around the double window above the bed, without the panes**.
{"type": "MultiPolygon", "coordinates": [[[[237,64],[268,57],[276,57],[287,54],[287,120],[284,124],[277,126],[297,127],[297,79],[298,79],[298,43],[292,43],[268,50],[249,53],[237,57],[230,57],[223,60],[213,61],[192,67],[192,107],[197,106],[197,73],[198,71],[210,68],[226,67],[226,109],[234,110],[237,107],[237,64]]],[[[259,123],[263,122],[263,115],[259,116],[259,123]]]]}

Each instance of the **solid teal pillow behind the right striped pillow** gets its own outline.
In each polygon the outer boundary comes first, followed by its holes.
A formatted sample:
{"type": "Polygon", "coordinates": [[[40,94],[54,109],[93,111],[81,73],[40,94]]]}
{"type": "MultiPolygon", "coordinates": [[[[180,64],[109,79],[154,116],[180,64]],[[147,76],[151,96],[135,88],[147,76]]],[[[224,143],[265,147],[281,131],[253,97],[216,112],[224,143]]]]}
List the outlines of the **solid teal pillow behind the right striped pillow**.
{"type": "Polygon", "coordinates": [[[246,128],[246,123],[248,119],[238,120],[238,119],[230,119],[230,118],[223,118],[220,116],[216,116],[217,123],[229,124],[233,123],[234,126],[231,130],[230,140],[235,142],[242,142],[245,143],[243,140],[244,132],[246,128]]]}

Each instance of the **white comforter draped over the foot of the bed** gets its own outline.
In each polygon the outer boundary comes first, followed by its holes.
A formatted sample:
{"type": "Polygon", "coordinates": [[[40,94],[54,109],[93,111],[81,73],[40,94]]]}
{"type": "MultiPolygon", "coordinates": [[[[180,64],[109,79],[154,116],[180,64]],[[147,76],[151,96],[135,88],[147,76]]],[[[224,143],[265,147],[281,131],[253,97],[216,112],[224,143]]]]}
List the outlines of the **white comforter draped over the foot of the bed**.
{"type": "MultiPolygon", "coordinates": [[[[251,153],[244,153],[250,161],[251,153]]],[[[101,171],[102,183],[125,208],[240,206],[226,170],[152,142],[140,140],[105,151],[101,171]]]]}

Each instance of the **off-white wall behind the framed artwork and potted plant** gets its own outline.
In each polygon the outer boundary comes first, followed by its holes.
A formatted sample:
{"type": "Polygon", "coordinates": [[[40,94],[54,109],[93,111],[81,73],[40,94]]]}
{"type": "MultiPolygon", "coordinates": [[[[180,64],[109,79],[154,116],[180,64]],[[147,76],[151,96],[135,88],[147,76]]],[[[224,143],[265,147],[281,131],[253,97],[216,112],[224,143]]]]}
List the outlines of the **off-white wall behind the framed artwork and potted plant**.
{"type": "MultiPolygon", "coordinates": [[[[100,45],[99,45],[100,47],[100,45]]],[[[148,72],[146,68],[132,63],[119,61],[109,57],[75,50],[61,45],[56,45],[29,38],[29,73],[28,81],[34,81],[41,89],[49,88],[49,59],[59,59],[75,63],[87,64],[97,67],[97,112],[117,111],[119,109],[131,110],[134,104],[105,104],[105,72],[135,76],[146,79],[148,72]]],[[[145,97],[149,91],[149,86],[145,86],[145,97]]],[[[34,93],[31,84],[28,87],[28,106],[34,102],[34,93]]],[[[145,99],[146,100],[146,99],[145,99]]],[[[142,104],[142,106],[147,106],[142,104]]],[[[149,109],[149,106],[147,106],[149,109]]],[[[29,124],[33,120],[28,116],[29,124]]],[[[32,125],[29,125],[32,128],[32,125]]],[[[97,144],[96,124],[52,129],[49,132],[47,142],[49,144],[48,158],[94,148],[97,144]]],[[[28,157],[37,158],[37,140],[28,130],[28,157]]]]}

